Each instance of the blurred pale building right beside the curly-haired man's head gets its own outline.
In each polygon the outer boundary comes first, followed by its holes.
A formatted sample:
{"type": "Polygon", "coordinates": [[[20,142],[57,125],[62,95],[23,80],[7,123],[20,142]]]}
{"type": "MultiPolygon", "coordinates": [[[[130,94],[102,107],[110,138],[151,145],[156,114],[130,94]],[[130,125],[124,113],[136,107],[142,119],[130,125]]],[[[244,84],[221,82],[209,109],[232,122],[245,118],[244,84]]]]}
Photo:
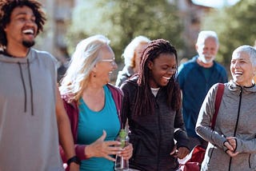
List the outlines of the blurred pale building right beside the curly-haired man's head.
{"type": "Polygon", "coordinates": [[[46,11],[45,32],[38,41],[38,49],[46,50],[60,62],[68,56],[66,50],[66,30],[72,18],[75,0],[38,0],[46,11]]]}

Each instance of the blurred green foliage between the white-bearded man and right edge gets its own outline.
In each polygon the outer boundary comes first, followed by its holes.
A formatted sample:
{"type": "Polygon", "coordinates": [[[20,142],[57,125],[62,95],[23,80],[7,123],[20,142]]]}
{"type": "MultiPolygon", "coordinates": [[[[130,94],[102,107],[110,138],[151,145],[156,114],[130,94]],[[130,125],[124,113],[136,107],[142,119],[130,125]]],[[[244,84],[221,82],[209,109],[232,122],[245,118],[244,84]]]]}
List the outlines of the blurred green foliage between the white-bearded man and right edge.
{"type": "Polygon", "coordinates": [[[235,6],[213,11],[205,18],[203,29],[218,33],[218,61],[229,68],[232,52],[238,46],[254,46],[256,39],[256,1],[241,0],[235,6]]]}

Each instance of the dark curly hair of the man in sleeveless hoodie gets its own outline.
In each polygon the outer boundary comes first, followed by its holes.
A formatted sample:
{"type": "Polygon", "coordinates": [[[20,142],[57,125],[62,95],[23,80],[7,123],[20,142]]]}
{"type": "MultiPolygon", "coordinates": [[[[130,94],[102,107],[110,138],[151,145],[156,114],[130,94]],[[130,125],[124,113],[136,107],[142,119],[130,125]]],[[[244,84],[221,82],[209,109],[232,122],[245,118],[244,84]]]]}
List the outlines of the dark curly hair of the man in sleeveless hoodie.
{"type": "Polygon", "coordinates": [[[28,6],[33,11],[35,23],[38,25],[38,32],[43,30],[43,25],[46,22],[46,15],[42,11],[42,5],[36,0],[1,0],[0,1],[0,45],[6,46],[7,39],[4,29],[10,23],[10,14],[16,7],[28,6]]]}

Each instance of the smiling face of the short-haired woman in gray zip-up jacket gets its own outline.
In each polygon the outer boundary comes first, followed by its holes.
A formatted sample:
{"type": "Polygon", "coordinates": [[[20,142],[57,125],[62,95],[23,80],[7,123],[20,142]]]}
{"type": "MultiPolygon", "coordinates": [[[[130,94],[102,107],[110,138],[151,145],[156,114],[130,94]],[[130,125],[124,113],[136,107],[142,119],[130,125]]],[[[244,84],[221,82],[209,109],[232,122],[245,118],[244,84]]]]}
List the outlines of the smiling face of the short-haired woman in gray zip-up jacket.
{"type": "Polygon", "coordinates": [[[234,82],[242,86],[251,86],[254,78],[255,67],[253,67],[250,56],[243,51],[235,51],[232,54],[230,71],[234,82]]]}

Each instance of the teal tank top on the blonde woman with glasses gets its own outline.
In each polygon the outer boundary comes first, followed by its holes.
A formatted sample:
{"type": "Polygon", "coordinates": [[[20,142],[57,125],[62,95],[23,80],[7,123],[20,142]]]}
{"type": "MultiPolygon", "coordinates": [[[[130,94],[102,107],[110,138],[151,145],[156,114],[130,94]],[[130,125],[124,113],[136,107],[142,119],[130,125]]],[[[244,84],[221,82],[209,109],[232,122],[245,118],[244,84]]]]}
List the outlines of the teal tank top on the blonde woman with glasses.
{"type": "MultiPolygon", "coordinates": [[[[88,108],[86,103],[79,99],[78,117],[78,144],[90,145],[102,136],[103,129],[106,131],[105,141],[113,141],[120,130],[118,113],[110,89],[105,85],[105,105],[101,111],[94,112],[88,108]]],[[[113,171],[114,162],[104,157],[91,157],[82,160],[81,171],[113,171]]]]}

